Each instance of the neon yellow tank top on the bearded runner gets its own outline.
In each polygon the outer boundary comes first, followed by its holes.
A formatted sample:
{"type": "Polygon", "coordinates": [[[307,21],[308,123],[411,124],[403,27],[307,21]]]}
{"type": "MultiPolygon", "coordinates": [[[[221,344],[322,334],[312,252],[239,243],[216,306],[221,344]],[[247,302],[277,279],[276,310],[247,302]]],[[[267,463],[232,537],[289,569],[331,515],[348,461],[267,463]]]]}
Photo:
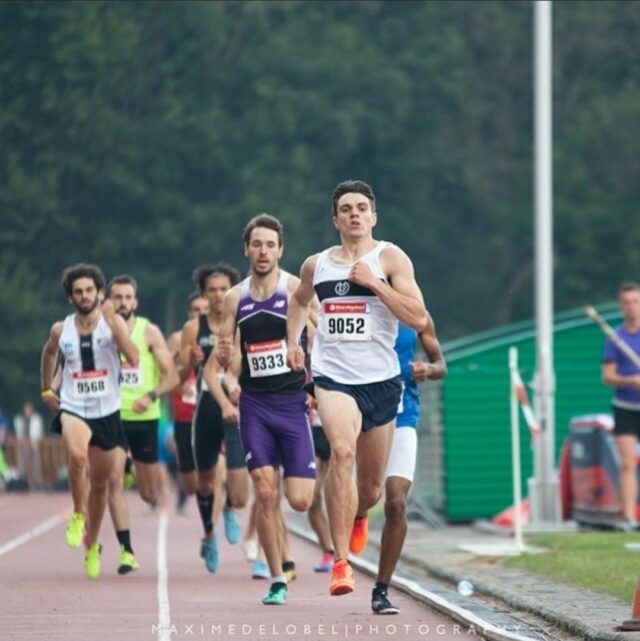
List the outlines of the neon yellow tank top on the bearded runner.
{"type": "Polygon", "coordinates": [[[160,368],[145,339],[149,319],[136,316],[131,341],[138,348],[140,360],[133,367],[122,357],[120,370],[120,418],[123,421],[151,421],[160,417],[160,401],[156,400],[142,413],[133,411],[141,396],[155,389],[160,381],[160,368]]]}

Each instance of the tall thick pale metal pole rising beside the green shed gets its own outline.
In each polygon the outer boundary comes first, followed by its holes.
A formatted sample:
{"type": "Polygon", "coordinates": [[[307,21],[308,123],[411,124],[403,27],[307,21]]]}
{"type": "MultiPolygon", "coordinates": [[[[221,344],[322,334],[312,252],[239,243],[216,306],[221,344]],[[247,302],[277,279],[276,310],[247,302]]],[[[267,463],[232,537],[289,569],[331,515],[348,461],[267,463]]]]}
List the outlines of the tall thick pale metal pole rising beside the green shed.
{"type": "Polygon", "coordinates": [[[552,34],[550,0],[535,0],[535,409],[543,429],[534,449],[530,480],[532,524],[559,521],[555,463],[555,377],[553,371],[553,175],[552,34]]]}

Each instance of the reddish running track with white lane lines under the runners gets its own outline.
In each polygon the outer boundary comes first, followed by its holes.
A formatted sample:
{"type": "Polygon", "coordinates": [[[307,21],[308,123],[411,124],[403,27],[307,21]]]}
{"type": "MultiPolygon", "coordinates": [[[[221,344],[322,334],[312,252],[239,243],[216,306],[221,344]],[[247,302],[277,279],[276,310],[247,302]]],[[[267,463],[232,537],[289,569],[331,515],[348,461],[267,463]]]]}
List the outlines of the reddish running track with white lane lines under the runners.
{"type": "Polygon", "coordinates": [[[329,577],[313,572],[318,549],[291,538],[297,579],[284,606],[264,606],[267,581],[251,579],[239,546],[220,537],[220,568],[200,559],[200,523],[152,513],[129,493],[132,544],[141,568],[119,576],[108,515],[102,526],[102,574],[85,578],[83,551],[64,542],[67,494],[0,495],[0,641],[439,641],[479,639],[410,597],[393,592],[397,616],[371,613],[372,579],[356,573],[356,591],[330,597],[329,577]]]}

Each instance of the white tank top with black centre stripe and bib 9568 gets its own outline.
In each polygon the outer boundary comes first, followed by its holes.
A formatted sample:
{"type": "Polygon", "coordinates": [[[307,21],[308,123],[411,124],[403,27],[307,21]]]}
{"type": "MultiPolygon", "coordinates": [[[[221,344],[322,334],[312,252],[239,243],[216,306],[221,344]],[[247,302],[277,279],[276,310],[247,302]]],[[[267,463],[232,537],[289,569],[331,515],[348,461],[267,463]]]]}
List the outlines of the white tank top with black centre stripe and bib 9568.
{"type": "Polygon", "coordinates": [[[78,333],[75,314],[64,319],[58,349],[64,357],[60,409],[82,418],[103,418],[120,409],[120,353],[100,316],[91,334],[78,333]]]}

